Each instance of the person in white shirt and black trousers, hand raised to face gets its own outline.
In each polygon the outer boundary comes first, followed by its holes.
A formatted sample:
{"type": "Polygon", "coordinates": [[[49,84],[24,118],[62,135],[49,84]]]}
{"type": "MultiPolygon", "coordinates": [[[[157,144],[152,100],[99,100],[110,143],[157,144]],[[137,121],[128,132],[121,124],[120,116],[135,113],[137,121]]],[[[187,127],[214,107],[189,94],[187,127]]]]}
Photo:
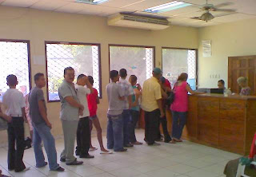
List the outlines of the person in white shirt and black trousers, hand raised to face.
{"type": "Polygon", "coordinates": [[[75,89],[78,94],[78,100],[83,105],[84,109],[79,116],[78,130],[77,130],[77,148],[76,155],[80,158],[94,158],[94,155],[88,153],[90,149],[90,112],[87,103],[87,95],[94,92],[94,88],[90,84],[88,77],[80,74],[77,79],[75,89]],[[87,86],[87,88],[85,87],[87,86]]]}

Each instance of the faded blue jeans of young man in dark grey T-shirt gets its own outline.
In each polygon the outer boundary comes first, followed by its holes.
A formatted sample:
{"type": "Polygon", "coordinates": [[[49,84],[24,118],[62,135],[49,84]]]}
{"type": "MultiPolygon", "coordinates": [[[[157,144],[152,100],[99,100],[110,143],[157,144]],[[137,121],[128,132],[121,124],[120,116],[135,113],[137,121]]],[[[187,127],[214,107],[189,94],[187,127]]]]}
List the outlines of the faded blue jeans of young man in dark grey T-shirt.
{"type": "Polygon", "coordinates": [[[50,133],[50,128],[45,124],[33,124],[33,145],[36,167],[42,167],[45,164],[45,156],[42,152],[41,143],[43,142],[49,161],[50,170],[56,170],[59,165],[57,163],[57,151],[55,148],[54,136],[50,133]]]}

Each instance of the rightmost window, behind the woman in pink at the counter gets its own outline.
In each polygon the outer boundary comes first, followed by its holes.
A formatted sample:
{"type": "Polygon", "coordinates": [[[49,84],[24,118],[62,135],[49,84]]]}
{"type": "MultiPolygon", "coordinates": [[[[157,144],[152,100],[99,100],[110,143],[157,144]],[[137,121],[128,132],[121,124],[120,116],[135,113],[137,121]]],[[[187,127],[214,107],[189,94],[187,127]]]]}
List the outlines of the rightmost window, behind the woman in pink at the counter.
{"type": "Polygon", "coordinates": [[[188,73],[188,83],[192,89],[197,85],[197,50],[162,49],[162,75],[174,85],[178,75],[188,73]]]}

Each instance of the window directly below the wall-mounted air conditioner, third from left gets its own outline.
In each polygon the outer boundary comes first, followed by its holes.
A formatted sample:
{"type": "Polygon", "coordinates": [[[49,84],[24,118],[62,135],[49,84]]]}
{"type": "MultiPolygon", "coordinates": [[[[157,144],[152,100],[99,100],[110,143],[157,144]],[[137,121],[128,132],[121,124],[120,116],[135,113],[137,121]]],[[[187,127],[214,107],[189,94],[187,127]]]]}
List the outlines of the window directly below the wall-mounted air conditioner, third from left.
{"type": "Polygon", "coordinates": [[[110,45],[110,70],[126,69],[128,77],[134,74],[143,85],[152,75],[154,47],[110,45]]]}

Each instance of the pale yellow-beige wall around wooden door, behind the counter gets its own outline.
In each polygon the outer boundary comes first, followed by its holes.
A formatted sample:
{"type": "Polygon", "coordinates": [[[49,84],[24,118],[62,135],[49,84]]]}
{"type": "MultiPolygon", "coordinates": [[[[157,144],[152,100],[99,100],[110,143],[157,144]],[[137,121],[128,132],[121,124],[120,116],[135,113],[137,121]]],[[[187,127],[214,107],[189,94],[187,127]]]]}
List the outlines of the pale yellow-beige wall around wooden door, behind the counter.
{"type": "Polygon", "coordinates": [[[201,88],[216,88],[220,79],[228,77],[228,57],[255,55],[256,18],[198,31],[198,81],[201,88]],[[211,40],[212,57],[202,57],[202,41],[211,40]],[[210,75],[220,78],[210,78],[210,75]]]}

